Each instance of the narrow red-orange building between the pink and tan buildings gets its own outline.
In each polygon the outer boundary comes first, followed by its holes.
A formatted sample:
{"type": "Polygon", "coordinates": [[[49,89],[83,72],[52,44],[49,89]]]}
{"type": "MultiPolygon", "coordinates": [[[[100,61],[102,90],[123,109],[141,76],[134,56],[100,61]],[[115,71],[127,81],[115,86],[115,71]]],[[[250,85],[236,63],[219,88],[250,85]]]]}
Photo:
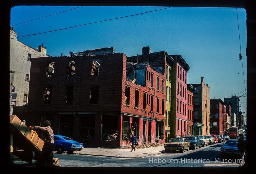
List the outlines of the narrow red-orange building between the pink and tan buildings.
{"type": "Polygon", "coordinates": [[[193,135],[193,113],[194,113],[194,107],[193,107],[193,98],[194,98],[194,92],[196,90],[195,87],[188,84],[187,85],[187,135],[193,135]]]}

